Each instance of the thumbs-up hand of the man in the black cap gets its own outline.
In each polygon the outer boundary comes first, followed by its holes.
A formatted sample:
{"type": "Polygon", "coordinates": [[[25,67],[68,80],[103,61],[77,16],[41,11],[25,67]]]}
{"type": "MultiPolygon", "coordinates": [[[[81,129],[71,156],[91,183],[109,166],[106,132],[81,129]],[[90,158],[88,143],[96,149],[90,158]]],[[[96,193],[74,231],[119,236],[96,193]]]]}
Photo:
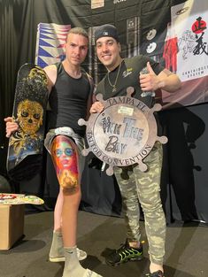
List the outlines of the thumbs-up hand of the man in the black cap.
{"type": "Polygon", "coordinates": [[[147,70],[149,73],[141,73],[139,76],[140,86],[143,91],[155,91],[161,88],[161,81],[158,75],[152,69],[150,62],[147,63],[147,70]]]}

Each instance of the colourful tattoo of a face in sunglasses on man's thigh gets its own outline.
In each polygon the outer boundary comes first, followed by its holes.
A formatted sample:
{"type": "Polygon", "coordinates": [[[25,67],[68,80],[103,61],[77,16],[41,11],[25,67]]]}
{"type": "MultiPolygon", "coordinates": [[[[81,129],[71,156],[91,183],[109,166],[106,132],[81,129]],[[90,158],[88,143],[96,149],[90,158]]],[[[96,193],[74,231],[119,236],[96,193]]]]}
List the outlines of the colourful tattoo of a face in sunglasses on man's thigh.
{"type": "Polygon", "coordinates": [[[51,144],[51,157],[58,182],[63,189],[79,189],[79,166],[74,142],[65,135],[58,135],[51,144]]]}

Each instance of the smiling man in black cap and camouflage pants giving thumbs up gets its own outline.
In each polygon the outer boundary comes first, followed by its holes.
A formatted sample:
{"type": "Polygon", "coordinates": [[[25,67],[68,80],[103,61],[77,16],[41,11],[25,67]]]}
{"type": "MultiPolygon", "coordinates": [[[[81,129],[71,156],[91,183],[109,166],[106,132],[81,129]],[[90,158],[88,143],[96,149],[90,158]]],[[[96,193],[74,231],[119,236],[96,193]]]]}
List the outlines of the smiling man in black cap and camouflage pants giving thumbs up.
{"type": "MultiPolygon", "coordinates": [[[[110,24],[96,27],[95,41],[97,57],[108,70],[96,88],[96,94],[102,93],[104,100],[115,96],[126,96],[127,88],[134,87],[134,97],[151,108],[158,89],[174,92],[181,87],[181,81],[176,74],[148,57],[140,55],[134,58],[121,58],[116,27],[110,24]],[[143,73],[143,69],[146,73],[143,73]]],[[[90,112],[102,112],[103,109],[103,104],[96,102],[90,112]]],[[[143,246],[140,243],[139,200],[143,207],[150,253],[150,273],[145,276],[164,277],[166,218],[160,198],[162,167],[160,142],[155,143],[150,154],[144,158],[144,162],[148,165],[145,173],[139,170],[138,165],[122,167],[129,176],[128,180],[123,179],[119,167],[114,167],[125,210],[127,241],[119,250],[114,250],[106,258],[106,262],[110,265],[119,265],[127,260],[140,260],[143,257],[143,246]]]]}

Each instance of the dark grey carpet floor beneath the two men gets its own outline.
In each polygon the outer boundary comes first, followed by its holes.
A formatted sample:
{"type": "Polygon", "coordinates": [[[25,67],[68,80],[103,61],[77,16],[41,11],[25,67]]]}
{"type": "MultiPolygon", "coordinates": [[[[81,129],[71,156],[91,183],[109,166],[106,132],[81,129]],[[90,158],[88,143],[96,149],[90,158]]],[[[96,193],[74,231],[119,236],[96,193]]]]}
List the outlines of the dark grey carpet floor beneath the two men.
{"type": "MultiPolygon", "coordinates": [[[[24,238],[11,250],[0,251],[0,277],[62,277],[64,263],[50,263],[53,212],[25,216],[24,238]]],[[[119,266],[104,263],[106,253],[125,241],[124,221],[89,212],[79,212],[78,247],[87,250],[81,265],[104,277],[142,277],[148,272],[148,243],[141,222],[144,258],[119,266]]],[[[196,223],[167,227],[166,277],[208,276],[208,228],[196,223]]],[[[69,276],[70,277],[70,276],[69,276]]]]}

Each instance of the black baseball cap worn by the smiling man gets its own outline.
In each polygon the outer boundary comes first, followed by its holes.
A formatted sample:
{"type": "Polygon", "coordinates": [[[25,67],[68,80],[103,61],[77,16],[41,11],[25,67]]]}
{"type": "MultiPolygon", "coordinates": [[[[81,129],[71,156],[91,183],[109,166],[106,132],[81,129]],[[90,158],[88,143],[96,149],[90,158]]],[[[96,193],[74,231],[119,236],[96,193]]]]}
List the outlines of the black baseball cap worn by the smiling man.
{"type": "Polygon", "coordinates": [[[95,41],[97,41],[100,37],[110,36],[114,38],[117,42],[119,42],[119,35],[117,32],[117,28],[111,24],[104,24],[96,27],[95,31],[95,41]]]}

